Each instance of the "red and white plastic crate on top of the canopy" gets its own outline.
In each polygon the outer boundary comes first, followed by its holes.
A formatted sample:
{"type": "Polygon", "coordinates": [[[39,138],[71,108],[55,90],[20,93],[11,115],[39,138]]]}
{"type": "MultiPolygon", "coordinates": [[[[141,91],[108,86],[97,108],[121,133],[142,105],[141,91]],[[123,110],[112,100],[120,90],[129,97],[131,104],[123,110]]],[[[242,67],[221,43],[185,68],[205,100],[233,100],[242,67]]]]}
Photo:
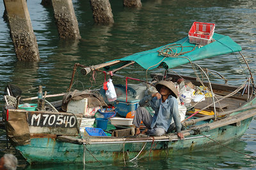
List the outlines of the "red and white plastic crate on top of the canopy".
{"type": "Polygon", "coordinates": [[[189,43],[207,45],[211,42],[212,35],[214,34],[214,29],[215,24],[194,22],[188,33],[189,43]]]}

